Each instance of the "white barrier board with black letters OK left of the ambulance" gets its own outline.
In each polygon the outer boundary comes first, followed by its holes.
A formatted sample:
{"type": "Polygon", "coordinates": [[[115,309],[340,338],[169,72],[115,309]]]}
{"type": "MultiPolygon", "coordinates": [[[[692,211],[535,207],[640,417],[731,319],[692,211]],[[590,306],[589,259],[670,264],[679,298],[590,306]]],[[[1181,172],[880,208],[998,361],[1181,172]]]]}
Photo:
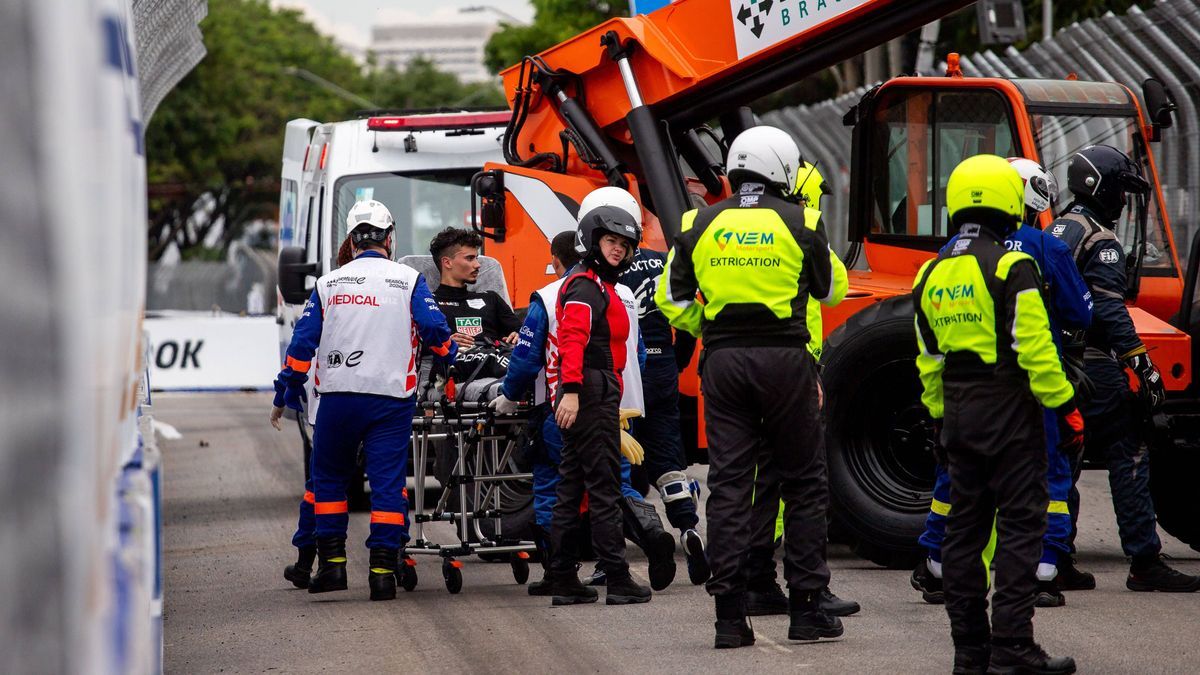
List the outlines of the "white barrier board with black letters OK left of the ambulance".
{"type": "Polygon", "coordinates": [[[155,392],[269,389],[280,371],[272,317],[146,317],[144,325],[155,392]]]}

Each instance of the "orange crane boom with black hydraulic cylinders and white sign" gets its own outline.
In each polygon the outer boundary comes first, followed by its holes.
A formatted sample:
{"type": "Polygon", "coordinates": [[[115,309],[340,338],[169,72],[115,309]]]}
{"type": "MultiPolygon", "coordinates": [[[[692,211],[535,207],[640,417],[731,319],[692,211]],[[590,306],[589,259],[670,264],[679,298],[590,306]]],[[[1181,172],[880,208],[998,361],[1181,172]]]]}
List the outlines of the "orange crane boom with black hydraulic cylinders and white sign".
{"type": "Polygon", "coordinates": [[[613,185],[634,174],[673,233],[686,205],[660,161],[676,156],[673,135],[970,4],[678,0],[610,19],[502,72],[515,113],[506,159],[613,185]],[[568,142],[576,153],[559,159],[568,142]]]}

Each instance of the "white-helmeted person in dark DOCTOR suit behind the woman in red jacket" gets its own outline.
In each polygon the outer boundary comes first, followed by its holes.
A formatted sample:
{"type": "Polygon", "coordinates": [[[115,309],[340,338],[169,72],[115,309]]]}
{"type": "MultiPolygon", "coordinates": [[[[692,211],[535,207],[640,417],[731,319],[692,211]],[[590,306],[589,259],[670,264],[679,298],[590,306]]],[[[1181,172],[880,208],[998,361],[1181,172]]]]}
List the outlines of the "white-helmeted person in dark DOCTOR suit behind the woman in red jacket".
{"type": "MultiPolygon", "coordinates": [[[[629,211],[641,226],[642,207],[632,195],[619,187],[601,187],[588,199],[601,192],[623,195],[624,198],[614,197],[613,203],[629,211]]],[[[581,210],[586,208],[586,202],[581,210]]],[[[634,263],[620,275],[620,282],[634,292],[638,327],[646,342],[646,370],[642,374],[646,417],[630,420],[630,432],[646,448],[646,476],[659,490],[667,520],[679,530],[679,543],[688,557],[688,578],[698,585],[709,577],[704,539],[696,531],[700,516],[696,515],[694,489],[698,491],[698,484],[694,486],[684,473],[688,460],[679,428],[679,366],[674,353],[674,331],[654,303],[654,291],[666,259],[666,253],[638,247],[634,263]]]]}

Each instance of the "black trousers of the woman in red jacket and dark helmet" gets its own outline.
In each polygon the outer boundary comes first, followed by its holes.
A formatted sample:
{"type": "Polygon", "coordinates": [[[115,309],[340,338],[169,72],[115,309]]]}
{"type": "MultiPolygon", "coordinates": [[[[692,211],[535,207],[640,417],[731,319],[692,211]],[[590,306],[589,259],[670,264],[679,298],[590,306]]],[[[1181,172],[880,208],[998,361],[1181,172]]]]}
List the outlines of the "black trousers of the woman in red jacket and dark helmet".
{"type": "MultiPolygon", "coordinates": [[[[562,396],[562,393],[559,393],[562,396]]],[[[580,413],[563,430],[554,509],[550,524],[550,569],[575,573],[580,562],[580,504],[588,495],[592,548],[612,577],[629,574],[620,514],[620,386],[613,372],[584,369],[580,413]]]]}

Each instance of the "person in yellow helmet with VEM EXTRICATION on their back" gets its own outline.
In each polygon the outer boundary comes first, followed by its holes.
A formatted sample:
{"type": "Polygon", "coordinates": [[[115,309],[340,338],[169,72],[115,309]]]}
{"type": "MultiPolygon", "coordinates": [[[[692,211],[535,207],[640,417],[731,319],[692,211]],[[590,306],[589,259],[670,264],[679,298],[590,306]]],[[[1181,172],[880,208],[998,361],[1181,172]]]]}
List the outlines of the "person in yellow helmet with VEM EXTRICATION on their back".
{"type": "Polygon", "coordinates": [[[950,173],[946,205],[954,246],[926,262],[913,285],[922,402],[943,420],[950,474],[942,545],[954,671],[1074,673],[1033,641],[1037,561],[1046,526],[1042,411],[1082,434],[1042,300],[1037,263],[1007,251],[1020,227],[1025,186],[1003,157],[977,155],[950,173]],[[995,592],[988,622],[983,550],[995,521],[995,592]],[[1015,670],[1009,670],[1015,669],[1015,670]]]}

